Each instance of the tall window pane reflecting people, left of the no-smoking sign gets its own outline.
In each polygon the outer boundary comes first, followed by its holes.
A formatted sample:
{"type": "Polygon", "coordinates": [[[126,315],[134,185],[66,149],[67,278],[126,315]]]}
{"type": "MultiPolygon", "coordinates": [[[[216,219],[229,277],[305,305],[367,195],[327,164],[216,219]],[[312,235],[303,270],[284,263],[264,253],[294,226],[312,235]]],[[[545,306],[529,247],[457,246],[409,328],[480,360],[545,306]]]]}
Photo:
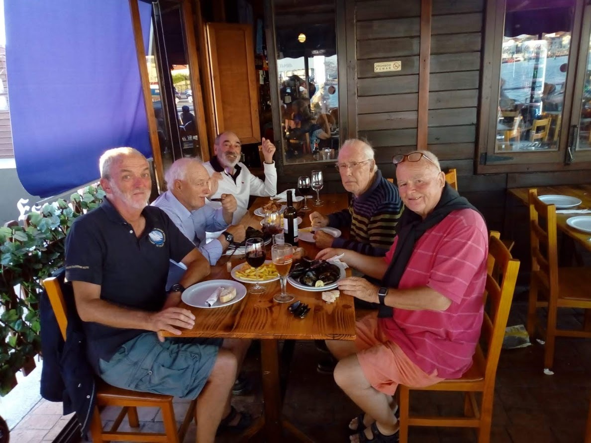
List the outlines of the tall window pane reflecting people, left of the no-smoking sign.
{"type": "Polygon", "coordinates": [[[286,163],[334,161],[339,149],[335,6],[299,11],[275,0],[282,148],[286,163]],[[298,20],[293,20],[297,15],[298,20]]]}

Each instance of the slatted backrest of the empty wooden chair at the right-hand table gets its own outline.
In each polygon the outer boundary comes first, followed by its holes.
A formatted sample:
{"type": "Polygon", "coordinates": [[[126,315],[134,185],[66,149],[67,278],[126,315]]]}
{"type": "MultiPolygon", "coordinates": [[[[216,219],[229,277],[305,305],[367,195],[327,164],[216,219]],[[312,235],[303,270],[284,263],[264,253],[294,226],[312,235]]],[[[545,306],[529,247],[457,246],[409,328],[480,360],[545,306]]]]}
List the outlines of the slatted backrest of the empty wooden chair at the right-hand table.
{"type": "Polygon", "coordinates": [[[541,285],[551,294],[558,291],[558,246],[556,206],[538,198],[538,190],[530,189],[531,272],[539,275],[541,285]],[[543,223],[540,223],[543,221],[543,223]]]}

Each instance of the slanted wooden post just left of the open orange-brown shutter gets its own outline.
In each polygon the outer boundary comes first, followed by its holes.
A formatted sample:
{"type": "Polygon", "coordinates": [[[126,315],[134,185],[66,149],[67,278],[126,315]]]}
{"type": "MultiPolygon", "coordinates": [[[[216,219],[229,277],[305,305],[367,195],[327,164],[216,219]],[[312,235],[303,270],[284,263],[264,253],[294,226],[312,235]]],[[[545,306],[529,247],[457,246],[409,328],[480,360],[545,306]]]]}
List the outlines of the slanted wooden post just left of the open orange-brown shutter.
{"type": "Polygon", "coordinates": [[[205,122],[205,109],[203,106],[203,92],[201,90],[201,76],[199,73],[199,51],[197,50],[197,42],[195,40],[195,33],[199,29],[195,29],[193,22],[193,9],[191,8],[191,0],[183,1],[183,27],[186,32],[187,57],[189,58],[189,74],[191,76],[191,90],[193,92],[193,112],[197,120],[197,136],[199,137],[199,150],[201,159],[209,161],[209,144],[207,144],[207,125],[205,122]]]}

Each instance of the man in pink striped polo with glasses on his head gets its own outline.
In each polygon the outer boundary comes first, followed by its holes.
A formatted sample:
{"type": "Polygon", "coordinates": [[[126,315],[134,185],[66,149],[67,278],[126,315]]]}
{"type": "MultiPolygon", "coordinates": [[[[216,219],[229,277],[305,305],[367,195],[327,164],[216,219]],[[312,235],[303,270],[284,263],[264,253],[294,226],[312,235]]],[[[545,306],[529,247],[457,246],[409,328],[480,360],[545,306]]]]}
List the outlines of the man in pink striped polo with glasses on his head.
{"type": "Polygon", "coordinates": [[[398,441],[400,383],[421,387],[462,376],[472,364],[482,326],[488,232],[482,215],[445,181],[428,151],[397,155],[396,179],[407,210],[384,258],[344,253],[364,278],[339,282],[345,294],[381,305],[356,324],[355,342],[328,341],[339,360],[335,381],[363,410],[350,423],[353,442],[398,441]]]}

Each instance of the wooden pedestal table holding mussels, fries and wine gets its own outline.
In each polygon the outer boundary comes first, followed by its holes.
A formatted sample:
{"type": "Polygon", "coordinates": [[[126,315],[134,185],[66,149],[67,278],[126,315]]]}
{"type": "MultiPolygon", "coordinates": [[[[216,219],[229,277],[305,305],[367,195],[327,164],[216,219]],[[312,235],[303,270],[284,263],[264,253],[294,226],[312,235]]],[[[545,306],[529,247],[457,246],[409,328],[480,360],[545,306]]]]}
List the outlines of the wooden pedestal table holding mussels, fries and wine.
{"type": "MultiPolygon", "coordinates": [[[[330,214],[347,207],[347,194],[323,194],[323,206],[314,207],[309,200],[308,206],[323,214],[330,214]]],[[[269,201],[268,197],[256,198],[248,213],[241,220],[245,226],[261,229],[261,217],[254,215],[254,210],[269,201]]],[[[296,206],[296,205],[294,205],[296,206]]],[[[296,208],[300,206],[298,203],[296,208]]],[[[300,208],[301,209],[301,208],[300,208]]],[[[300,214],[300,228],[310,226],[310,213],[300,214]]],[[[314,258],[319,249],[313,243],[300,240],[306,255],[314,258]]],[[[267,246],[267,258],[270,258],[271,245],[267,246]]],[[[226,268],[228,256],[222,256],[216,266],[212,266],[210,279],[232,279],[226,268]]],[[[244,262],[243,256],[232,256],[232,268],[244,262]]],[[[350,269],[346,269],[350,275],[350,269]]],[[[247,289],[251,286],[245,284],[247,289]]],[[[296,318],[288,312],[289,303],[278,303],[273,296],[280,292],[280,282],[264,284],[267,289],[263,294],[249,294],[239,302],[216,309],[191,307],[181,302],[181,307],[193,312],[195,324],[190,330],[183,330],[180,337],[219,337],[250,338],[261,343],[261,374],[264,411],[254,424],[237,438],[248,441],[259,432],[264,432],[269,443],[281,441],[282,430],[293,434],[300,441],[311,441],[282,415],[282,388],[280,380],[279,340],[355,340],[355,308],[350,295],[341,294],[335,303],[327,304],[321,298],[322,292],[304,291],[289,283],[287,291],[296,296],[296,300],[306,303],[311,308],[304,318],[296,318]]],[[[170,333],[163,335],[171,336],[170,333]]]]}

